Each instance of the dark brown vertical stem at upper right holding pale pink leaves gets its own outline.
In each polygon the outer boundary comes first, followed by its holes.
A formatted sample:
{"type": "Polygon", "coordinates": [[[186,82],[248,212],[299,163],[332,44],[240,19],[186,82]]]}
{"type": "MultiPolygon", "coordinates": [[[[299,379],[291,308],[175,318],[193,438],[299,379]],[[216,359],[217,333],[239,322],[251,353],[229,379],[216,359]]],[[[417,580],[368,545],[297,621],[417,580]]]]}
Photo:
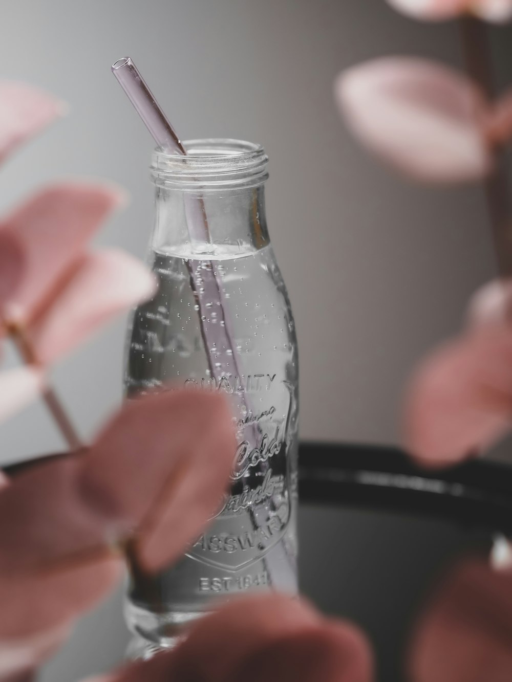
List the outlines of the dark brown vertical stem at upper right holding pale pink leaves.
{"type": "MultiPolygon", "coordinates": [[[[492,99],[496,95],[496,86],[489,46],[489,29],[483,22],[470,16],[459,19],[458,23],[466,71],[485,95],[492,99]]],[[[508,189],[509,178],[503,149],[498,147],[495,153],[494,170],[484,181],[484,192],[498,272],[502,278],[509,278],[512,276],[512,215],[508,189]]]]}

